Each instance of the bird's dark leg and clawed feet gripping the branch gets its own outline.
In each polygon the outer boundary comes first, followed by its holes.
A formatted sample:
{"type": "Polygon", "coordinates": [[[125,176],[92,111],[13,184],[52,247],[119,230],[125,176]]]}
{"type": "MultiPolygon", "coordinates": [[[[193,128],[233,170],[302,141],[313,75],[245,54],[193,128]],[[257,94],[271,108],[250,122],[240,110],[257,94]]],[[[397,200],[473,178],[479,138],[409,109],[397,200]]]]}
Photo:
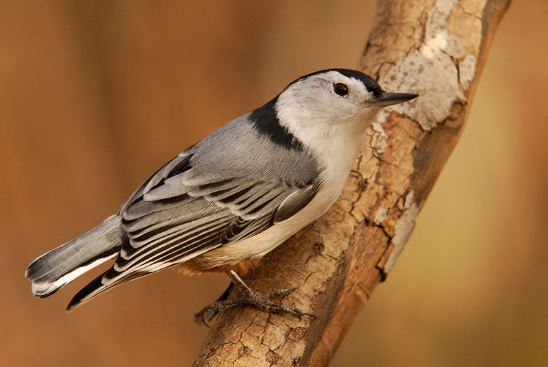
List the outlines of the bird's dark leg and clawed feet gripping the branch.
{"type": "Polygon", "coordinates": [[[285,294],[288,294],[292,290],[295,290],[295,288],[277,290],[272,293],[261,293],[249,288],[249,286],[247,286],[247,284],[238,276],[238,274],[236,274],[236,272],[234,272],[234,270],[231,270],[227,273],[227,275],[230,280],[232,280],[231,285],[227,288],[227,290],[225,290],[225,292],[223,292],[221,297],[219,297],[216,302],[203,307],[200,312],[195,314],[195,321],[198,325],[209,326],[208,322],[210,322],[216,314],[223,312],[227,308],[238,305],[253,305],[264,312],[288,312],[290,314],[294,314],[298,318],[301,318],[303,315],[312,316],[314,318],[316,317],[303,309],[290,307],[288,305],[284,305],[283,303],[271,301],[271,299],[277,296],[284,296],[285,294]],[[234,285],[237,287],[240,295],[234,299],[227,299],[229,291],[234,285]]]}

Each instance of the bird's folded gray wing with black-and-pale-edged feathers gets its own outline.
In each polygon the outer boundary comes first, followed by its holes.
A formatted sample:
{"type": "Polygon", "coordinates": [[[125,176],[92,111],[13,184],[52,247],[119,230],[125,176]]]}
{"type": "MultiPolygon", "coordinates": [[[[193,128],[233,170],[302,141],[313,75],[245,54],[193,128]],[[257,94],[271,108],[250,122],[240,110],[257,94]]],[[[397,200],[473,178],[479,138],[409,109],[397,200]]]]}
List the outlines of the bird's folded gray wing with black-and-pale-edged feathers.
{"type": "MultiPolygon", "coordinates": [[[[244,142],[237,143],[240,147],[244,142]]],[[[282,166],[278,167],[281,174],[272,175],[272,168],[264,165],[284,152],[269,153],[271,157],[245,162],[255,168],[251,169],[222,156],[237,152],[223,149],[212,156],[198,145],[160,168],[120,210],[129,242],[105,273],[103,285],[190,260],[254,236],[299,212],[319,189],[315,162],[301,153],[290,162],[298,173],[288,173],[289,168],[282,166]],[[233,162],[233,166],[214,162],[233,162]]]]}

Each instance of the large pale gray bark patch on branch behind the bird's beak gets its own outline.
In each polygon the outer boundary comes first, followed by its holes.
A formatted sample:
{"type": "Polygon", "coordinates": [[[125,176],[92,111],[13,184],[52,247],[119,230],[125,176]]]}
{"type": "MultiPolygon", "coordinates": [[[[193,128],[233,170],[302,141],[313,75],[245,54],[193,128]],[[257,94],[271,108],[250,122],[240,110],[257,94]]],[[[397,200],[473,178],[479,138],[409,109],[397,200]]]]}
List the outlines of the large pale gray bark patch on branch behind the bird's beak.
{"type": "MultiPolygon", "coordinates": [[[[410,50],[379,80],[386,90],[420,94],[413,101],[387,110],[405,113],[424,130],[443,122],[455,103],[467,103],[461,87],[466,88],[475,73],[474,55],[463,55],[460,41],[449,31],[448,19],[456,3],[437,0],[428,12],[422,45],[410,50]]],[[[386,116],[380,114],[379,122],[386,121],[386,116]]]]}

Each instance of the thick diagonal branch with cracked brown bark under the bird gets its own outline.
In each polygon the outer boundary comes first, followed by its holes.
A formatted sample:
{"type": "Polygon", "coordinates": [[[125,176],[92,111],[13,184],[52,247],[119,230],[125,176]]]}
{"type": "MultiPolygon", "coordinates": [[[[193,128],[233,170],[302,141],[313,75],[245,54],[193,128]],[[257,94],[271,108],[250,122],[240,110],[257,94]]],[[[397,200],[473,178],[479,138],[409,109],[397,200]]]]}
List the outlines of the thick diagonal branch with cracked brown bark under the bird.
{"type": "Polygon", "coordinates": [[[419,92],[379,116],[343,194],[245,280],[316,319],[253,307],[219,316],[194,366],[326,366],[393,268],[464,127],[490,41],[510,0],[379,1],[360,69],[419,92]]]}

